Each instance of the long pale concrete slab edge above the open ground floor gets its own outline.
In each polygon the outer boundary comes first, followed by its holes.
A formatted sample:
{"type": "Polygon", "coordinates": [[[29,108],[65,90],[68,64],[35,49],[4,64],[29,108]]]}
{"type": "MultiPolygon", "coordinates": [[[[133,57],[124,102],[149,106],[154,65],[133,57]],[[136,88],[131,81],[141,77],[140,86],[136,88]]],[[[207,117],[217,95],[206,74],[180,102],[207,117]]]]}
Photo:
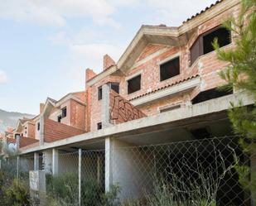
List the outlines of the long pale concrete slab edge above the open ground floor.
{"type": "Polygon", "coordinates": [[[95,132],[87,132],[75,137],[66,138],[60,141],[54,141],[43,146],[34,147],[27,151],[22,151],[21,154],[27,154],[33,151],[41,151],[58,146],[67,146],[70,144],[78,143],[81,141],[91,141],[104,137],[114,137],[126,132],[134,132],[138,129],[162,125],[165,123],[176,122],[191,117],[198,117],[201,115],[207,115],[210,113],[218,113],[230,108],[230,102],[238,104],[240,100],[243,100],[244,106],[254,103],[253,96],[246,92],[233,93],[221,98],[215,98],[203,103],[197,103],[185,108],[178,108],[167,113],[159,113],[156,116],[144,117],[130,122],[124,122],[122,124],[115,125],[113,127],[107,127],[95,132]]]}

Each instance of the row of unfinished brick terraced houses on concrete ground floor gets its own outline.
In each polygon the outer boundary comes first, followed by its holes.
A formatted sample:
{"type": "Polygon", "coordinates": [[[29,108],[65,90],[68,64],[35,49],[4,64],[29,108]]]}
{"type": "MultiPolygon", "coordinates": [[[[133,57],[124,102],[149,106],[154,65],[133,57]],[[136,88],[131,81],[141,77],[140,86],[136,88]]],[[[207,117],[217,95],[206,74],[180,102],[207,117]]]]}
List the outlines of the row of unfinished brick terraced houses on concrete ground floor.
{"type": "MultiPolygon", "coordinates": [[[[221,50],[234,47],[234,33],[221,23],[238,12],[238,0],[223,0],[181,26],[141,26],[117,62],[104,55],[102,72],[86,69],[84,92],[47,98],[38,116],[18,123],[20,164],[31,158],[30,170],[78,172],[104,191],[119,184],[121,199],[140,199],[152,189],[150,174],[168,179],[184,157],[209,167],[214,149],[237,148],[236,137],[224,138],[232,134],[229,102],[243,99],[247,106],[253,98],[217,89],[227,63],[217,59],[212,42],[217,38],[221,50]],[[23,144],[26,138],[35,142],[23,144]]],[[[225,156],[225,164],[232,158],[225,156]]],[[[248,161],[255,165],[255,158],[248,161]]],[[[248,197],[237,175],[225,176],[218,205],[253,205],[248,197]]]]}

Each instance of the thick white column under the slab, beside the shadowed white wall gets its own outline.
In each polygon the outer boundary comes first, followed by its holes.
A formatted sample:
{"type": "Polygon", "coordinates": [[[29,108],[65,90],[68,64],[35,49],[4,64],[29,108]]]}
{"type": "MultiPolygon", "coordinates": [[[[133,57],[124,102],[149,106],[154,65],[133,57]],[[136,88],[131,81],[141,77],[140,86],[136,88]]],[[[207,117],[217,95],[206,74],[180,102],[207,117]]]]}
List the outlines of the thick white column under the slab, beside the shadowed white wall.
{"type": "Polygon", "coordinates": [[[111,184],[113,184],[113,144],[111,137],[105,138],[105,191],[109,191],[111,184]]]}

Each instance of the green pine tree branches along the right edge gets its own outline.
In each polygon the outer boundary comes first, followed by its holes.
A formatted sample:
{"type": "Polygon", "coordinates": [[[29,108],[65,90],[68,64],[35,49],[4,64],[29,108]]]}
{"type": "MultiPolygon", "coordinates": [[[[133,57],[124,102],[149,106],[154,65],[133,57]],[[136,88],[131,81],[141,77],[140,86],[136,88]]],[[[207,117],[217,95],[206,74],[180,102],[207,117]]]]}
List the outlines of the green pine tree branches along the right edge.
{"type": "MultiPolygon", "coordinates": [[[[234,132],[241,135],[241,148],[251,158],[256,159],[256,1],[242,0],[239,17],[229,17],[223,24],[234,36],[234,48],[220,50],[218,41],[214,46],[218,58],[229,62],[220,77],[225,79],[228,86],[225,89],[245,90],[254,97],[254,107],[243,107],[231,103],[229,120],[234,132]]],[[[256,165],[252,165],[255,166],[256,165]]],[[[246,165],[236,167],[239,182],[251,191],[256,201],[256,170],[246,165]],[[251,178],[249,179],[249,175],[251,178]]]]}

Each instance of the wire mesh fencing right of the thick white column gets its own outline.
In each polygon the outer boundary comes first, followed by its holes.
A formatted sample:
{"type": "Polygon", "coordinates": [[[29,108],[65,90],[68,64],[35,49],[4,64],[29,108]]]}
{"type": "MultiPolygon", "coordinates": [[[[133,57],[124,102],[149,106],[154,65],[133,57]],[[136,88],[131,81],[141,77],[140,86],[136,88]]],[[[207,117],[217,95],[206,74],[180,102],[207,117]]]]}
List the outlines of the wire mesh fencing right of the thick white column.
{"type": "Polygon", "coordinates": [[[239,137],[224,137],[116,147],[113,183],[120,185],[122,199],[143,202],[169,193],[173,205],[251,205],[235,167],[250,165],[253,156],[244,154],[238,142],[239,137]]]}

